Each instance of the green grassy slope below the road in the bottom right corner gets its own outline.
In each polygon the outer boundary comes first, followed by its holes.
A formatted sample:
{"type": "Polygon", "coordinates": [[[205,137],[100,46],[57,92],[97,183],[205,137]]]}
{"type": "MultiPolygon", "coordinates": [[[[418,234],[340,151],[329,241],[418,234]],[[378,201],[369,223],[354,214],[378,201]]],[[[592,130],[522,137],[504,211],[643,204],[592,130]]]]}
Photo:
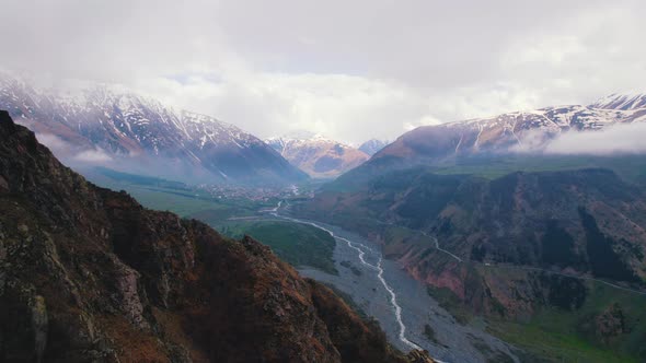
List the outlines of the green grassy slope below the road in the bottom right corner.
{"type": "MultiPolygon", "coordinates": [[[[545,283],[554,276],[541,274],[545,283]]],[[[562,279],[572,280],[574,279],[562,279]]],[[[528,362],[643,362],[646,359],[646,296],[620,291],[605,284],[581,283],[586,298],[580,301],[580,289],[561,291],[558,297],[575,293],[573,303],[547,296],[530,316],[496,316],[484,318],[487,332],[524,350],[528,362]],[[567,305],[567,306],[566,306],[567,305]]],[[[564,289],[561,289],[564,290],[564,289]]],[[[463,325],[477,318],[460,298],[448,289],[429,288],[428,293],[463,325]]]]}

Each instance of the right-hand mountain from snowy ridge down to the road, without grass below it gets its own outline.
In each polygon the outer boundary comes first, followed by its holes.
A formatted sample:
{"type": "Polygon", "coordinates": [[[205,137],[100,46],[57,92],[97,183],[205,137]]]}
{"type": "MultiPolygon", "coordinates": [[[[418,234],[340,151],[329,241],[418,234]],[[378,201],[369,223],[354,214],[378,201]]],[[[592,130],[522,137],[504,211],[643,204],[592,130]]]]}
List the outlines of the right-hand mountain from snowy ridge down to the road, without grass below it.
{"type": "Polygon", "coordinates": [[[644,95],[613,95],[590,106],[420,127],[323,186],[309,211],[341,224],[356,222],[348,214],[357,214],[432,232],[465,259],[553,264],[592,273],[595,256],[586,254],[582,241],[589,233],[584,224],[605,221],[599,231],[612,247],[604,257],[611,258],[612,250],[620,254],[609,262],[618,276],[605,277],[646,281],[643,154],[519,154],[514,149],[537,132],[549,143],[565,132],[603,132],[616,125],[645,122],[644,99],[644,95]],[[547,247],[541,247],[535,234],[554,229],[573,238],[569,251],[560,251],[565,260],[541,255],[547,247]]]}

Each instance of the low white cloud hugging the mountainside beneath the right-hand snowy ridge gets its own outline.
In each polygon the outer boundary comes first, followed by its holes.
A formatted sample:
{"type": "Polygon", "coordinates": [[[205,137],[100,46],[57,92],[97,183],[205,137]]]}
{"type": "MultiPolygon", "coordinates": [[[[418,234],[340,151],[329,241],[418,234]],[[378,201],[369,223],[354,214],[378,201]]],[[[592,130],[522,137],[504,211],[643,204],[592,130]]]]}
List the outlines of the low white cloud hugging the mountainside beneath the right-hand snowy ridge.
{"type": "Polygon", "coordinates": [[[618,124],[596,131],[570,131],[552,140],[547,154],[643,154],[646,153],[646,122],[618,124]]]}

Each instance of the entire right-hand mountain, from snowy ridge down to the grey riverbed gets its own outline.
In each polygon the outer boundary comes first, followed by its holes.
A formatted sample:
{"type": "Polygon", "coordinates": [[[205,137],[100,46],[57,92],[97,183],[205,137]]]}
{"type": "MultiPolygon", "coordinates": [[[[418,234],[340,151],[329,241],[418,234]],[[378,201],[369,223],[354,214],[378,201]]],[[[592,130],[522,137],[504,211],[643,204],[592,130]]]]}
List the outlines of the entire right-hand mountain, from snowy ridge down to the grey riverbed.
{"type": "MultiPolygon", "coordinates": [[[[458,316],[532,321],[642,361],[635,341],[646,339],[638,300],[646,289],[646,150],[553,154],[550,145],[570,132],[604,136],[628,126],[638,139],[644,99],[613,95],[420,127],[292,208],[378,242],[458,316]],[[541,320],[562,314],[573,318],[541,320]]],[[[501,333],[541,354],[539,341],[501,333]]]]}

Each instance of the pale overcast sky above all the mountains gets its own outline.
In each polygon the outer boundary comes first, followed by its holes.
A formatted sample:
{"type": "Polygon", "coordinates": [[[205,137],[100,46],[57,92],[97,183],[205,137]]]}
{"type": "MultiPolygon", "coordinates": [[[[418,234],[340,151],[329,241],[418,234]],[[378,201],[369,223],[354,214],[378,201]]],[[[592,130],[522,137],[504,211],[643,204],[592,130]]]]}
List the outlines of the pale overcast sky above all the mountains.
{"type": "Polygon", "coordinates": [[[2,0],[0,67],[358,143],[646,89],[646,1],[2,0]]]}

